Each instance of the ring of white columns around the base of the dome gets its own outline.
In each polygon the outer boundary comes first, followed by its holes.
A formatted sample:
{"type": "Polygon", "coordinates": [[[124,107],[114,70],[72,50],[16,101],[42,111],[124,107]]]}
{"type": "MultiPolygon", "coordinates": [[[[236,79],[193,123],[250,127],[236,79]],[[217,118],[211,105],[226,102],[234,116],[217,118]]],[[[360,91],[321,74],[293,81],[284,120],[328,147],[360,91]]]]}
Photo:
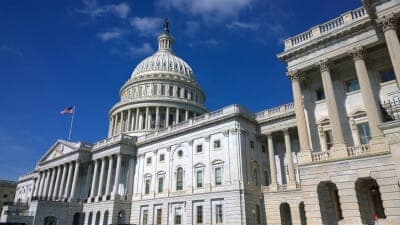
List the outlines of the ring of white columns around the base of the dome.
{"type": "Polygon", "coordinates": [[[125,131],[164,128],[196,116],[195,112],[173,107],[157,106],[129,109],[111,116],[108,136],[125,131]],[[172,120],[170,116],[172,116],[172,120]],[[161,120],[162,118],[163,120],[161,120]]]}

